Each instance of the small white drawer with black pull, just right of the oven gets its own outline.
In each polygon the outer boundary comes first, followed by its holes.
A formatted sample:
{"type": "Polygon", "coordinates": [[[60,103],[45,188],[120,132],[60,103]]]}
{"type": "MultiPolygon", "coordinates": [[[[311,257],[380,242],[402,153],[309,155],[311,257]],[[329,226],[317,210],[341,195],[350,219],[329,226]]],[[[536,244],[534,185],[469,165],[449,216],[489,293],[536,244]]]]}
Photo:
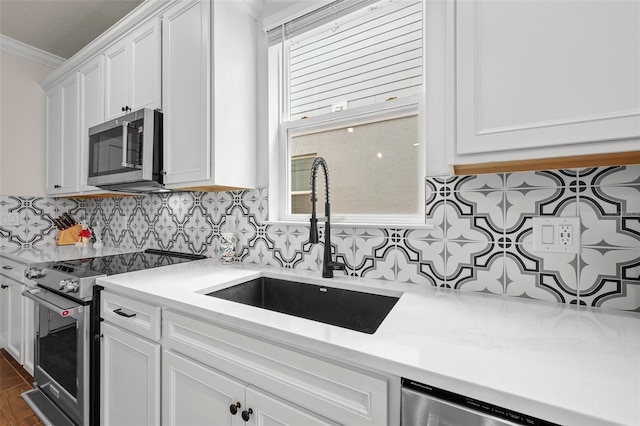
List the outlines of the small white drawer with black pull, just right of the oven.
{"type": "Polygon", "coordinates": [[[149,340],[160,340],[160,307],[102,292],[100,316],[149,340]]]}

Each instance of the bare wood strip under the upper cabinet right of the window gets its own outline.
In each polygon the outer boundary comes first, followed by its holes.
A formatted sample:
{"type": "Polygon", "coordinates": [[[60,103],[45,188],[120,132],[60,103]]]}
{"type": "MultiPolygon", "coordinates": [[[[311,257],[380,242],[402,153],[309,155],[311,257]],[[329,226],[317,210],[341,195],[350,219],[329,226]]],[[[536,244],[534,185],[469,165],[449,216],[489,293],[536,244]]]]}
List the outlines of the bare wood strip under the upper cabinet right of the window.
{"type": "Polygon", "coordinates": [[[640,151],[575,155],[570,157],[540,158],[534,160],[455,164],[452,166],[452,171],[455,176],[461,176],[480,175],[486,173],[525,172],[533,170],[620,166],[627,164],[640,164],[640,151]]]}

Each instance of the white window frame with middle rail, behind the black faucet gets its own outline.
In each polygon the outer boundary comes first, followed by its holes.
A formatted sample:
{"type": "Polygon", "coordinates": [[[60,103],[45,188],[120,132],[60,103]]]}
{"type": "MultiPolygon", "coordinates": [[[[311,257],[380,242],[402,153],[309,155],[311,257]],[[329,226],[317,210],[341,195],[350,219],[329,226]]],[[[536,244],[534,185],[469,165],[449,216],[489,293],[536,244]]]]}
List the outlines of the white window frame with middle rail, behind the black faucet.
{"type": "MultiPolygon", "coordinates": [[[[357,126],[374,121],[383,121],[410,115],[418,115],[418,211],[416,214],[353,214],[338,215],[332,213],[331,223],[335,226],[389,226],[402,225],[408,227],[425,225],[425,178],[426,161],[426,44],[425,44],[425,8],[423,7],[423,41],[422,41],[422,90],[420,93],[387,102],[346,109],[321,116],[289,120],[289,76],[288,73],[288,41],[268,47],[268,126],[269,126],[269,222],[287,224],[307,224],[309,215],[290,213],[290,135],[319,130],[330,130],[357,126]]],[[[329,174],[331,175],[331,164],[329,174]]],[[[323,214],[323,194],[318,196],[318,213],[323,214]]]]}

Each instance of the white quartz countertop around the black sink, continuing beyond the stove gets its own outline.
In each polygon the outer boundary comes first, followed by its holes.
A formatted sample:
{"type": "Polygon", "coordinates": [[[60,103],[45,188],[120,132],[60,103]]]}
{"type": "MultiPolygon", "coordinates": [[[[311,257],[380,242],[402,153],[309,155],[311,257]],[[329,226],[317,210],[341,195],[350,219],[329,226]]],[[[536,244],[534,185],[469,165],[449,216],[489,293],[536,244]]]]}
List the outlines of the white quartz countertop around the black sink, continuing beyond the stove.
{"type": "MultiPolygon", "coordinates": [[[[24,261],[83,257],[13,253],[24,261]]],[[[104,250],[104,248],[102,249],[104,250]]],[[[131,251],[131,250],[129,250],[131,251]]],[[[6,250],[0,251],[8,255],[6,250]]],[[[111,254],[101,252],[101,254],[111,254]]],[[[207,259],[105,289],[363,368],[566,425],[640,425],[640,315],[207,259]],[[365,334],[206,296],[259,276],[401,296],[365,334]]]]}

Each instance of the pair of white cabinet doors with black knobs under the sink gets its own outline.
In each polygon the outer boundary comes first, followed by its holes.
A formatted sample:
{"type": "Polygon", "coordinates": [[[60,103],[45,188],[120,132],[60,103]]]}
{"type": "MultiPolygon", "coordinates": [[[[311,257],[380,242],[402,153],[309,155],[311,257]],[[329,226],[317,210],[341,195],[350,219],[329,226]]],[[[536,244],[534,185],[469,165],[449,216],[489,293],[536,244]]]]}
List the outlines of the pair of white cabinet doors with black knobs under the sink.
{"type": "Polygon", "coordinates": [[[220,426],[337,425],[167,350],[162,359],[162,423],[220,426]]]}

